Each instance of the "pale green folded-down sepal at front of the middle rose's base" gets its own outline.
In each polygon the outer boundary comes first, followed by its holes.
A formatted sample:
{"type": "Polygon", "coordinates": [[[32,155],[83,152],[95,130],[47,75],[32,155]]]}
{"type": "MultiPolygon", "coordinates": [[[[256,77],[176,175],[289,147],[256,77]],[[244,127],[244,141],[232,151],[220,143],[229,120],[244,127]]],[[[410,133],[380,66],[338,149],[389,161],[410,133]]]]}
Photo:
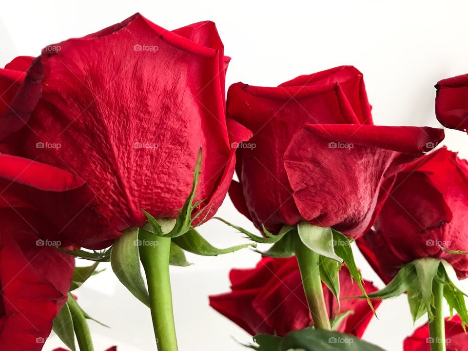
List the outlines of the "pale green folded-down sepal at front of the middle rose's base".
{"type": "Polygon", "coordinates": [[[317,227],[307,221],[300,221],[297,224],[297,232],[304,245],[313,252],[343,262],[343,259],[335,254],[331,228],[317,227]]]}

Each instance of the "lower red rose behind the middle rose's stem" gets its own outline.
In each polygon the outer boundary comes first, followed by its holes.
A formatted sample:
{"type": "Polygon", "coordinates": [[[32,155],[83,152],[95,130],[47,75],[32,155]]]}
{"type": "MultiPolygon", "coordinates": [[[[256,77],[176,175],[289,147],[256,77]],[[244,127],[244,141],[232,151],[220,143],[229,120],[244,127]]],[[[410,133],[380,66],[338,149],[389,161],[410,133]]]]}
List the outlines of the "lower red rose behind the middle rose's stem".
{"type": "MultiPolygon", "coordinates": [[[[252,335],[258,333],[284,336],[289,331],[312,325],[312,317],[302,287],[297,260],[290,258],[263,258],[254,269],[232,270],[231,289],[221,295],[210,296],[210,305],[252,335]]],[[[346,268],[340,271],[341,298],[360,295],[346,268]]],[[[365,281],[367,292],[377,289],[365,281]]],[[[324,285],[325,301],[330,317],[338,313],[338,303],[324,285]]],[[[380,300],[372,300],[374,308],[380,300]]],[[[361,337],[372,318],[366,300],[341,301],[341,311],[353,310],[339,327],[339,331],[361,337]]]]}

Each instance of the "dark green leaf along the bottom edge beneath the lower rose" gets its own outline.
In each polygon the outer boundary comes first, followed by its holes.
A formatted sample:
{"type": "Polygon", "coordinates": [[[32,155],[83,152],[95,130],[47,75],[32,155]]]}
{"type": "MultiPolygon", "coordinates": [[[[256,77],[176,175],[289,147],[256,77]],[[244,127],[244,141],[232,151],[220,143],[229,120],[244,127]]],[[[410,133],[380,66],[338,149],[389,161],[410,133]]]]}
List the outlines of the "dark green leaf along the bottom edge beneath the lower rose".
{"type": "Polygon", "coordinates": [[[257,351],[384,351],[350,334],[306,328],[291,331],[285,337],[268,334],[254,336],[257,351]]]}

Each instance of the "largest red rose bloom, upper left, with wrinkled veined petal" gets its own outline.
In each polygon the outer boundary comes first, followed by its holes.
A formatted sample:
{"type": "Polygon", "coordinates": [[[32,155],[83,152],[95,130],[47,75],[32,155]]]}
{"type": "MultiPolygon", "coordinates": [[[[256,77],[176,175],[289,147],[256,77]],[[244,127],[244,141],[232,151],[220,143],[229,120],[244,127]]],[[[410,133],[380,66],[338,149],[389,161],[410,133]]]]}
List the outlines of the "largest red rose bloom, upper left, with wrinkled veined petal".
{"type": "MultiPolygon", "coordinates": [[[[145,224],[140,209],[178,215],[201,147],[195,200],[215,214],[234,173],[231,144],[251,133],[226,120],[228,58],[213,22],[171,32],[136,14],[47,46],[26,77],[12,71],[21,60],[0,72],[0,87],[16,90],[0,116],[3,152],[76,175],[97,197],[95,213],[121,231],[145,224]]],[[[84,236],[77,244],[104,246],[84,236]]]]}

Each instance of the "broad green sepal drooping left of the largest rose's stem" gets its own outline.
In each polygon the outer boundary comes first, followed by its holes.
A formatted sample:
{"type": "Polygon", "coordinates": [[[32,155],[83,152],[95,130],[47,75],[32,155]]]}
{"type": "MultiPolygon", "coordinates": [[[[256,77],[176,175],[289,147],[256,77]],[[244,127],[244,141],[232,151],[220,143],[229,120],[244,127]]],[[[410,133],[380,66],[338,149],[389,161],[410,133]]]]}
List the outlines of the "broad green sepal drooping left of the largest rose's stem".
{"type": "Polygon", "coordinates": [[[111,253],[111,266],[118,280],[141,302],[150,306],[148,290],[141,275],[138,231],[143,229],[128,229],[122,233],[111,253]]]}

